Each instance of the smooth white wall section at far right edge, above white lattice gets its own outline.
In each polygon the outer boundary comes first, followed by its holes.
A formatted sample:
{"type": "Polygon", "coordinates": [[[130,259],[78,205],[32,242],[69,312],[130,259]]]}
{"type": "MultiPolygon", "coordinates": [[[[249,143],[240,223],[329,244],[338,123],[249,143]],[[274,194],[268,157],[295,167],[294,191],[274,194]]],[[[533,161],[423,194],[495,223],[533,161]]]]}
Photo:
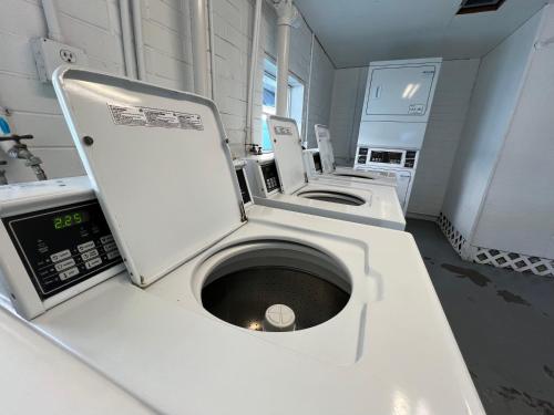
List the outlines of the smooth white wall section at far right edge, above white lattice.
{"type": "MultiPolygon", "coordinates": [[[[554,37],[554,6],[540,39],[554,37]]],[[[554,258],[554,46],[533,50],[472,243],[554,258]]]]}

